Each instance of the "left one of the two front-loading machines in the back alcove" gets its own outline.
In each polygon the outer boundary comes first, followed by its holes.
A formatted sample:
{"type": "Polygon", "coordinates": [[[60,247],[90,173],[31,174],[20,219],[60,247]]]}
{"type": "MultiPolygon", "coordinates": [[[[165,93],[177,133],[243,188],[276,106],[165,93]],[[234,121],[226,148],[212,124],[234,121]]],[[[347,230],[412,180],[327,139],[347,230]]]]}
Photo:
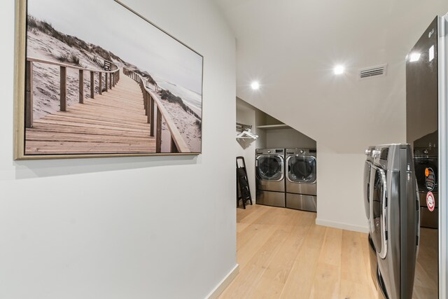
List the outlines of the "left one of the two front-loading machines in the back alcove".
{"type": "Polygon", "coordinates": [[[284,162],[284,148],[255,150],[257,204],[286,207],[284,162]]]}

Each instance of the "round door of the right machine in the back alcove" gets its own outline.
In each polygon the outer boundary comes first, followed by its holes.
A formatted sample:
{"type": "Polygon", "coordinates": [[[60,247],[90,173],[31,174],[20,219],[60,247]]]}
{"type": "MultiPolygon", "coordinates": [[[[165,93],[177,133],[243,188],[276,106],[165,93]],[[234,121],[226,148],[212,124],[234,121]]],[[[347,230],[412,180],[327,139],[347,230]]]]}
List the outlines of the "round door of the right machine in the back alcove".
{"type": "Polygon", "coordinates": [[[316,182],[316,158],[306,155],[288,157],[288,180],[294,183],[316,182]]]}

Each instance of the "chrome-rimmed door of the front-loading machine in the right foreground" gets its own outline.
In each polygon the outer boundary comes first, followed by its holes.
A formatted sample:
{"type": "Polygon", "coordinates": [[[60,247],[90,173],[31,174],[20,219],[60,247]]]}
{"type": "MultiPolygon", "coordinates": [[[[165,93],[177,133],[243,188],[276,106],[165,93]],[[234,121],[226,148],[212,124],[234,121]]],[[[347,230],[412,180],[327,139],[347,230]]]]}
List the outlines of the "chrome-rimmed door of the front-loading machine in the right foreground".
{"type": "Polygon", "coordinates": [[[370,235],[377,254],[387,254],[387,182],[383,169],[370,167],[370,235]]]}

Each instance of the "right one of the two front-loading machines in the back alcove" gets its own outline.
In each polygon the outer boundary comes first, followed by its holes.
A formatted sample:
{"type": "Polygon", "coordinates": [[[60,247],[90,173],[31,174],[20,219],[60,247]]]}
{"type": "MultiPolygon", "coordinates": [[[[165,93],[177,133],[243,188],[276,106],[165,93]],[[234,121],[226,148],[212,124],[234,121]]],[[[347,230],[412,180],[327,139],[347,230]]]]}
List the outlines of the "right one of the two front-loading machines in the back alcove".
{"type": "Polygon", "coordinates": [[[317,211],[316,148],[286,148],[286,207],[317,211]]]}

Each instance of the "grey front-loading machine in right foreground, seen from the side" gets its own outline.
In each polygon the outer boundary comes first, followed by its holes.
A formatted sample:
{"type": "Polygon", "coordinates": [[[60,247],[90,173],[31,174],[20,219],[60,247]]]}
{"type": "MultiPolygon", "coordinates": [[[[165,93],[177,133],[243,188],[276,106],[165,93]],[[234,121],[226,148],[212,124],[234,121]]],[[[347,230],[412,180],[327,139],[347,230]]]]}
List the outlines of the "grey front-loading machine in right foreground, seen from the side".
{"type": "Polygon", "coordinates": [[[364,170],[372,279],[384,298],[412,298],[419,197],[409,144],[370,146],[364,170]]]}

